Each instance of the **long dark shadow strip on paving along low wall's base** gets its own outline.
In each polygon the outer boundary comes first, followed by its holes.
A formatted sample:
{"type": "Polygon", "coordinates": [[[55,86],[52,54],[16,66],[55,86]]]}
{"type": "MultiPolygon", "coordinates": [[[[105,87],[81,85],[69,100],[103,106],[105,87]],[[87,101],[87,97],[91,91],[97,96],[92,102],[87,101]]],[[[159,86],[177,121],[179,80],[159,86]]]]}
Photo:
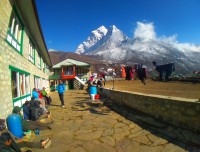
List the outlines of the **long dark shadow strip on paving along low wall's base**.
{"type": "Polygon", "coordinates": [[[131,109],[125,105],[117,104],[109,99],[104,99],[103,105],[158,137],[166,139],[189,152],[200,152],[199,132],[163,122],[160,119],[154,118],[138,110],[131,109]]]}

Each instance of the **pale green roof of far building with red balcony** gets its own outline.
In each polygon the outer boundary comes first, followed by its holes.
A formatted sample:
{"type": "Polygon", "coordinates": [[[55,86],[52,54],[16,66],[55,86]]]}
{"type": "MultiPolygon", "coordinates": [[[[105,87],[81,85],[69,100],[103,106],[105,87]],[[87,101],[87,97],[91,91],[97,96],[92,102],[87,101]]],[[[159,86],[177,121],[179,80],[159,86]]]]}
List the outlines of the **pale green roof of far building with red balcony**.
{"type": "Polygon", "coordinates": [[[87,64],[85,62],[80,62],[80,61],[73,60],[73,59],[66,59],[66,60],[54,65],[52,67],[52,69],[61,68],[61,66],[73,66],[73,65],[76,65],[76,66],[90,66],[89,64],[87,64]]]}

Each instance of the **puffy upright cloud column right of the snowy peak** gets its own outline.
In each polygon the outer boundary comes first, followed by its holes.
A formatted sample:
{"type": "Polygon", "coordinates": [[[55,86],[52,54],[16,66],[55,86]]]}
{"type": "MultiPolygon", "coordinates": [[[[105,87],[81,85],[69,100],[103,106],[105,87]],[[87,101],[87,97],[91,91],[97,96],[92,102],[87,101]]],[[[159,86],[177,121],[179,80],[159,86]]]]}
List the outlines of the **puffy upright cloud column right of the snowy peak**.
{"type": "Polygon", "coordinates": [[[139,38],[142,41],[156,39],[153,23],[137,22],[137,27],[134,31],[134,38],[139,38]]]}

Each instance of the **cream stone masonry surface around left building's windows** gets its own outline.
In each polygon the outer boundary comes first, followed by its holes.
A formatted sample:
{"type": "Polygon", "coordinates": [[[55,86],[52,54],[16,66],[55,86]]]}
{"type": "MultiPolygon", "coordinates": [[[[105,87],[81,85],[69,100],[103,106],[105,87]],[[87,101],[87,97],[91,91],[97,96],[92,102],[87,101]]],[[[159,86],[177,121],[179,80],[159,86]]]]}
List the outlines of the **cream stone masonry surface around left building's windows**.
{"type": "Polygon", "coordinates": [[[0,1],[0,118],[6,118],[13,108],[11,90],[11,71],[13,66],[30,74],[30,86],[34,87],[34,75],[48,79],[48,75],[39,70],[28,61],[28,29],[25,25],[23,53],[19,54],[9,43],[6,42],[8,24],[12,12],[12,1],[0,1]]]}

